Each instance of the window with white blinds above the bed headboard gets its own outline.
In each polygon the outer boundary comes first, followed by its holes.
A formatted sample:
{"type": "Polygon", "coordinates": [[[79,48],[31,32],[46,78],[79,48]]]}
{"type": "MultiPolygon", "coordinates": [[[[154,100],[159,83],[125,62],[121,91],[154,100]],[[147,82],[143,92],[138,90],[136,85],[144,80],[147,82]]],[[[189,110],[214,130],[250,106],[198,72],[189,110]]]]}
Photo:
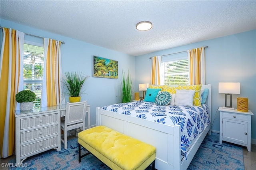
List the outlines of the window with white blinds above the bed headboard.
{"type": "Polygon", "coordinates": [[[188,85],[189,66],[188,54],[178,53],[162,57],[161,84],[164,85],[188,85]]]}

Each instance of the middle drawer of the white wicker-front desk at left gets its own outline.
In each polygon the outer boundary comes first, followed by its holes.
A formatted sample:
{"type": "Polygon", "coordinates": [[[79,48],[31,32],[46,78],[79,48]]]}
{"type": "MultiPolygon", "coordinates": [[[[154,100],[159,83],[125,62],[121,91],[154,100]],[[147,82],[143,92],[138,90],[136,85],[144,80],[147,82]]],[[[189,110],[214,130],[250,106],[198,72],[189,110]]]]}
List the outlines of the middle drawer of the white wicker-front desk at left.
{"type": "Polygon", "coordinates": [[[20,133],[20,142],[27,142],[29,140],[34,140],[37,138],[42,138],[44,136],[48,136],[51,134],[57,134],[58,133],[58,125],[53,125],[50,127],[45,128],[39,128],[36,130],[31,130],[27,132],[20,133]]]}

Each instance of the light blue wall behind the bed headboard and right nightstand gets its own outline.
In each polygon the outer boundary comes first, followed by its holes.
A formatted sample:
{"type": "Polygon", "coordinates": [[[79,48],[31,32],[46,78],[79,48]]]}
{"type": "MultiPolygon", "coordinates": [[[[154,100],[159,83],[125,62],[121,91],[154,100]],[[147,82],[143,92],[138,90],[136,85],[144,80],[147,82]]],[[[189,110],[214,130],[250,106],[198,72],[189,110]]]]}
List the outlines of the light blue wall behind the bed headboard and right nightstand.
{"type": "Polygon", "coordinates": [[[240,82],[240,95],[233,95],[232,106],[236,108],[237,97],[248,98],[249,110],[254,113],[252,138],[256,139],[256,30],[136,56],[136,86],[140,83],[150,83],[149,57],[206,45],[206,84],[212,86],[212,120],[215,119],[212,129],[219,131],[220,113],[217,110],[225,103],[225,95],[218,93],[218,83],[240,82]]]}

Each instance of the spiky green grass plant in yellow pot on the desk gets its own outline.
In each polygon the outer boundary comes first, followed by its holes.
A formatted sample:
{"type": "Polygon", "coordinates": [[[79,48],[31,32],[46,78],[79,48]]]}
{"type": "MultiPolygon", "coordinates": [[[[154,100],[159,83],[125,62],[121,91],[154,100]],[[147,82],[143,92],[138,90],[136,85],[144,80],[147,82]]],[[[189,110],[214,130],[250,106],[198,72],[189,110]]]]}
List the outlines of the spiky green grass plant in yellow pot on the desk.
{"type": "Polygon", "coordinates": [[[64,85],[67,88],[66,94],[70,95],[69,101],[79,102],[81,100],[81,94],[84,93],[83,90],[84,83],[88,78],[88,75],[84,75],[78,72],[65,72],[64,73],[64,85]]]}

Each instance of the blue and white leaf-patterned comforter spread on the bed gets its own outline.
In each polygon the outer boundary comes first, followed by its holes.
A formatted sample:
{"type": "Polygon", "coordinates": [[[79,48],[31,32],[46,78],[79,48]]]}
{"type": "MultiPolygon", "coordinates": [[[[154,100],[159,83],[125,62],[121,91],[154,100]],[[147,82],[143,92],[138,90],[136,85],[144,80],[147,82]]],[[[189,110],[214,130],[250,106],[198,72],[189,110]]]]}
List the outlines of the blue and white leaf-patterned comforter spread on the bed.
{"type": "Polygon", "coordinates": [[[180,125],[181,151],[186,158],[186,148],[210,124],[209,109],[205,104],[202,107],[157,106],[151,102],[134,101],[108,105],[101,109],[166,125],[180,125]]]}

